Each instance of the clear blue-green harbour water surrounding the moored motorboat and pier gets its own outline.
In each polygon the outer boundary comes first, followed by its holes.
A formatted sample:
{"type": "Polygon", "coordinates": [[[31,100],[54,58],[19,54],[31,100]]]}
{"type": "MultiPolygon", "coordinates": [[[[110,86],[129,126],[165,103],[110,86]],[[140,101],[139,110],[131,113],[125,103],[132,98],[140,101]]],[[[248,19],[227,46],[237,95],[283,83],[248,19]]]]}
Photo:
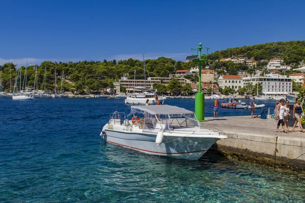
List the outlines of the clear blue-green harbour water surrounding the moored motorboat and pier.
{"type": "MultiPolygon", "coordinates": [[[[274,101],[268,103],[273,108],[274,101]]],[[[194,110],[194,99],[166,104],[194,110]]],[[[0,202],[305,201],[305,179],[293,174],[223,157],[177,160],[105,143],[99,133],[109,114],[130,111],[123,99],[4,98],[0,106],[0,202]]],[[[206,116],[212,116],[211,106],[206,101],[206,116]]],[[[250,111],[220,110],[220,116],[233,115],[250,111]]]]}

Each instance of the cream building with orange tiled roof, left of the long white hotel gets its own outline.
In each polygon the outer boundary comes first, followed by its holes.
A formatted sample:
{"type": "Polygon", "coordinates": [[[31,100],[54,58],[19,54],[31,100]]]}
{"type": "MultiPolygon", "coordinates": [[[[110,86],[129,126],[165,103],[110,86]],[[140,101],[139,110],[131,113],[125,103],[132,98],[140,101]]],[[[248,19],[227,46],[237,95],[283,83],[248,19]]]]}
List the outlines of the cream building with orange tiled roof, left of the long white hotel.
{"type": "Polygon", "coordinates": [[[223,75],[218,78],[217,82],[222,89],[230,87],[234,91],[237,91],[243,87],[242,78],[238,75],[223,75]]]}

